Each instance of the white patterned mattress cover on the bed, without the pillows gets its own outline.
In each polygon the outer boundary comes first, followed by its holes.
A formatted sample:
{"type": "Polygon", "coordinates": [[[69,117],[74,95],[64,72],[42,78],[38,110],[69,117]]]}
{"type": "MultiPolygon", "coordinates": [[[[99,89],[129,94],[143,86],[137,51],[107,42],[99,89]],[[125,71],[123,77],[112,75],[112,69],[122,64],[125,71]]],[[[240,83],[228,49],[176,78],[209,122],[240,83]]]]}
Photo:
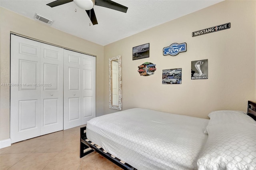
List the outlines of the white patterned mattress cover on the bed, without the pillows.
{"type": "Polygon", "coordinates": [[[138,170],[197,169],[208,121],[134,108],[91,119],[86,136],[138,170]]]}

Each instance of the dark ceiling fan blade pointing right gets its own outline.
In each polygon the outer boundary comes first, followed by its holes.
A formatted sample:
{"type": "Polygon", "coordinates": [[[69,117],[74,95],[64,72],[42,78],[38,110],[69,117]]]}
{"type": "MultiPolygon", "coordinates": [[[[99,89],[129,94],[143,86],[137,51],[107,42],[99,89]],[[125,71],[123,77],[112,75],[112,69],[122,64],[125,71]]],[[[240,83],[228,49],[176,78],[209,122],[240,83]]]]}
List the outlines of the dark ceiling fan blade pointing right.
{"type": "Polygon", "coordinates": [[[113,2],[112,0],[95,0],[95,5],[103,6],[103,7],[110,8],[110,9],[117,10],[124,13],[126,13],[128,10],[128,7],[118,4],[116,2],[113,2]]]}

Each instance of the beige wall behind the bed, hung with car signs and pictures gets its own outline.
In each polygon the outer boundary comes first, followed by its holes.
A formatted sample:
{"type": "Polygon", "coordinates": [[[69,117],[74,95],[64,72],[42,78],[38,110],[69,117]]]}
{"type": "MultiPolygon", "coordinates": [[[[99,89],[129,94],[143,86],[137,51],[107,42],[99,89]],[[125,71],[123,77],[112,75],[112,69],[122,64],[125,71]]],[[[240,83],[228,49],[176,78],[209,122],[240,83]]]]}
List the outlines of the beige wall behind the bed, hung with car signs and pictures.
{"type": "MultiPolygon", "coordinates": [[[[108,58],[122,55],[122,107],[207,118],[220,109],[247,111],[256,100],[256,1],[224,1],[104,46],[108,58]],[[192,32],[231,23],[231,28],[202,36],[192,32]],[[164,56],[163,47],[187,43],[187,52],[164,56]],[[132,47],[150,43],[150,57],[132,61],[132,47]],[[208,79],[191,80],[191,61],[208,59],[208,79]],[[156,64],[151,76],[138,66],[156,64]],[[182,68],[181,85],[162,85],[162,69],[182,68]]],[[[104,111],[108,109],[108,68],[104,67],[104,111]]]]}

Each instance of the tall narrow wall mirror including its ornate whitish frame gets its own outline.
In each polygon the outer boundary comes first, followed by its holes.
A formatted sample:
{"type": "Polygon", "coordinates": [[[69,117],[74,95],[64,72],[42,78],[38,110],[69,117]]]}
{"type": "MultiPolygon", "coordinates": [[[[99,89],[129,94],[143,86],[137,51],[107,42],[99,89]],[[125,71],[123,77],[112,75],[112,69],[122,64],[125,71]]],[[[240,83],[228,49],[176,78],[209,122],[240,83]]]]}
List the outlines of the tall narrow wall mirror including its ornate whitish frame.
{"type": "Polygon", "coordinates": [[[122,110],[121,55],[108,59],[109,108],[122,110]]]}

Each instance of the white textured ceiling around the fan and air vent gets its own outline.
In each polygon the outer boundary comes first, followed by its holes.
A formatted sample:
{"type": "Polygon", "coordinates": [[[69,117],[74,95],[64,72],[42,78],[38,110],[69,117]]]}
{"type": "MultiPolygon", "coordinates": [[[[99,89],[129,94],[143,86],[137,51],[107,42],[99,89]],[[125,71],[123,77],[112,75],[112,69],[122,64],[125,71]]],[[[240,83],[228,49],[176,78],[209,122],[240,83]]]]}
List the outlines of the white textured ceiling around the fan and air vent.
{"type": "Polygon", "coordinates": [[[54,20],[51,25],[53,28],[107,45],[223,0],[113,0],[127,6],[127,13],[94,6],[98,20],[98,25],[94,26],[89,26],[91,22],[86,11],[74,2],[54,8],[46,5],[53,1],[0,0],[0,6],[33,20],[37,12],[54,20]]]}

